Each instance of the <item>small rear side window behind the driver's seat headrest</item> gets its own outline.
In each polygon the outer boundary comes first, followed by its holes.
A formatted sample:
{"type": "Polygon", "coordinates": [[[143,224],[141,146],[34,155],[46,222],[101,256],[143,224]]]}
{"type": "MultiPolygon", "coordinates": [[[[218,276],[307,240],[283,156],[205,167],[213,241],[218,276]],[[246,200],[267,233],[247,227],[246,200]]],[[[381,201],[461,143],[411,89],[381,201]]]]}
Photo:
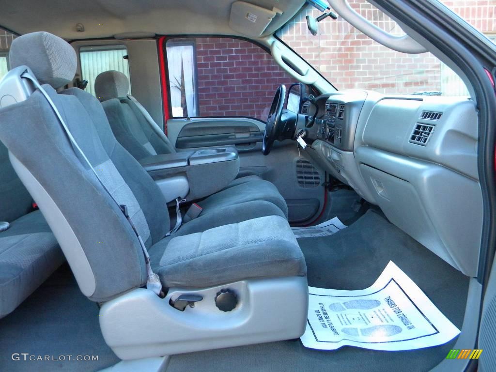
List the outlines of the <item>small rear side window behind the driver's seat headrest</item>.
{"type": "MultiPolygon", "coordinates": [[[[124,45],[88,46],[79,49],[82,79],[88,80],[86,91],[95,95],[95,78],[98,74],[116,70],[124,73],[129,79],[129,62],[124,45]]],[[[129,94],[131,81],[129,80],[129,94]]]]}

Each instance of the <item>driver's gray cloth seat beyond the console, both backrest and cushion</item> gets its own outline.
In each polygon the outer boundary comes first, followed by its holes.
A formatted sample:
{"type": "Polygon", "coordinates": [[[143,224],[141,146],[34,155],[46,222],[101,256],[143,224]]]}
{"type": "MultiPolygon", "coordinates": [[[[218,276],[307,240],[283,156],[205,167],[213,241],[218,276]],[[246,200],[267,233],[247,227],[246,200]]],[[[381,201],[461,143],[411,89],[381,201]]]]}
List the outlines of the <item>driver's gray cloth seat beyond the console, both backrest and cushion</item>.
{"type": "MultiPolygon", "coordinates": [[[[158,125],[150,124],[129,98],[128,79],[122,72],[111,70],[100,73],[95,79],[95,92],[117,140],[136,160],[176,152],[158,125]]],[[[225,189],[198,204],[204,209],[202,213],[208,213],[215,208],[252,200],[272,202],[288,216],[288,206],[277,187],[254,175],[234,180],[225,189]]]]}

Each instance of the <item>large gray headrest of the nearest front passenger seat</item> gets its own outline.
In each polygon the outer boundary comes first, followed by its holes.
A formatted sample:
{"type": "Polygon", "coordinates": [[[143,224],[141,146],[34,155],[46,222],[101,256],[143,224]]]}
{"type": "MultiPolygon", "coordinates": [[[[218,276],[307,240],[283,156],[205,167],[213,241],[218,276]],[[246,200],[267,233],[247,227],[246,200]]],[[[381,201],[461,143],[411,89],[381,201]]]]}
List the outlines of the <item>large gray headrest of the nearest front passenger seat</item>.
{"type": "Polygon", "coordinates": [[[74,78],[77,57],[65,40],[49,32],[32,32],[14,39],[9,60],[12,68],[26,65],[38,81],[57,89],[74,78]]]}

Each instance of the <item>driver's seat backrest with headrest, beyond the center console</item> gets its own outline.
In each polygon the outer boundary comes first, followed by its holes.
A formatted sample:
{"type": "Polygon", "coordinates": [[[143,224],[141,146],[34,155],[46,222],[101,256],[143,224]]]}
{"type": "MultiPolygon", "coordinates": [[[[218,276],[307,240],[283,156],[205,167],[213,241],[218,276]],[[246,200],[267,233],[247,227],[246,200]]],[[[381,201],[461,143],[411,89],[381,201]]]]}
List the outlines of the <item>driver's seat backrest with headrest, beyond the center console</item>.
{"type": "MultiPolygon", "coordinates": [[[[157,154],[170,154],[176,149],[157,124],[145,118],[137,104],[127,95],[127,77],[119,71],[105,71],[95,79],[95,92],[102,102],[117,140],[137,160],[157,154]]],[[[143,109],[144,110],[144,109],[143,109]]]]}

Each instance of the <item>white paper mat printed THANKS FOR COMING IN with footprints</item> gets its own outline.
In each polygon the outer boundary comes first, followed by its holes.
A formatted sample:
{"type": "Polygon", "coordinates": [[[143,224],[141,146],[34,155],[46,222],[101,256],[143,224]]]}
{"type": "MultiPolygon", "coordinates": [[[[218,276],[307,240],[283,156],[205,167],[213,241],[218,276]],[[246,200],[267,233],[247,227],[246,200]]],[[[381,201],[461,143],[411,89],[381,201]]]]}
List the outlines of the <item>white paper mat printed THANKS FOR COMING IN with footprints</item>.
{"type": "Polygon", "coordinates": [[[442,345],[459,333],[424,292],[389,261],[367,289],[309,287],[309,316],[301,340],[311,349],[335,350],[348,345],[396,351],[442,345]]]}

